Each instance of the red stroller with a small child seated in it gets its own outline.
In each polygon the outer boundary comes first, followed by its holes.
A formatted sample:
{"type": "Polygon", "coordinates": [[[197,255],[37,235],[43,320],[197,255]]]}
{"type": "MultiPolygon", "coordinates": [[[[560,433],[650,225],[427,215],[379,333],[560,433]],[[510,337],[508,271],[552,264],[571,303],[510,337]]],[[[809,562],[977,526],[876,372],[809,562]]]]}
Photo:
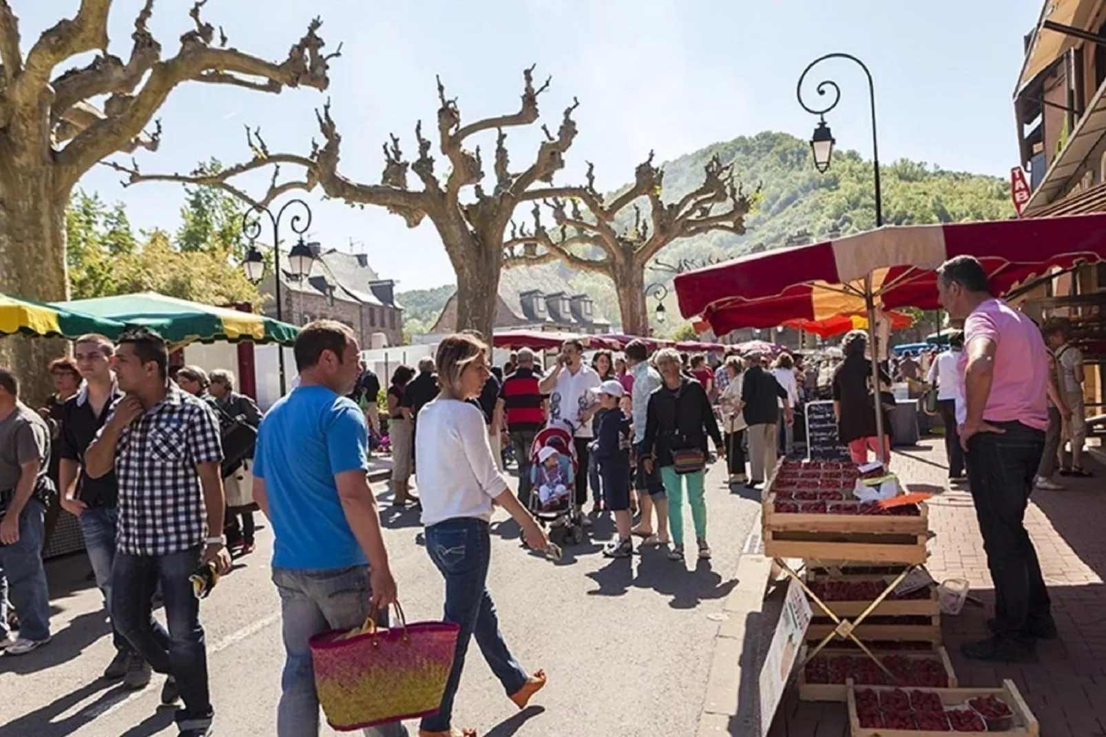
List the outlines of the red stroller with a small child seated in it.
{"type": "Polygon", "coordinates": [[[543,527],[553,529],[550,537],[559,542],[577,543],[584,539],[583,515],[576,504],[576,457],[572,433],[562,427],[546,427],[534,438],[530,450],[530,511],[543,527]]]}

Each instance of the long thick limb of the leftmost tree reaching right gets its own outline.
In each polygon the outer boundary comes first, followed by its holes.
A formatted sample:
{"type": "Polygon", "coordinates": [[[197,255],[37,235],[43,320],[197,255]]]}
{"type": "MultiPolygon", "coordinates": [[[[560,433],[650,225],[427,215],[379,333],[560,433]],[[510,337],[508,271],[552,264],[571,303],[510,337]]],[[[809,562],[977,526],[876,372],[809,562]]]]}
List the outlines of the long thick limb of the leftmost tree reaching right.
{"type": "Polygon", "coordinates": [[[198,18],[201,4],[198,3],[192,9],[198,30],[181,37],[177,55],[156,62],[137,94],[113,95],[108,100],[108,105],[114,101],[113,108],[105,105],[107,116],[81,132],[59,154],[58,164],[63,173],[59,178],[60,187],[72,187],[97,162],[135,139],[173,89],[181,82],[202,81],[205,74],[218,72],[240,79],[257,77],[275,82],[274,86],[265,87],[274,92],[284,86],[301,85],[326,89],[327,60],[333,54],[326,56],[322,53],[325,42],[316,33],[322,23],[319,19],[311,22],[306,34],[290,50],[288,59],[275,64],[234,49],[211,48],[205,40],[207,25],[198,18]]]}

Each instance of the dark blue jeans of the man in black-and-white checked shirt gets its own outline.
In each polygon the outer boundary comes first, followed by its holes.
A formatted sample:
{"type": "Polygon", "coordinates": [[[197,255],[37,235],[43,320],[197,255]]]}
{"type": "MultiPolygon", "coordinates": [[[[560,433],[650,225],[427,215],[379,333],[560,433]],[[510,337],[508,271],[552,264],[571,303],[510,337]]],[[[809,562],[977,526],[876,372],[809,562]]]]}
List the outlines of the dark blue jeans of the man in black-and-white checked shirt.
{"type": "Polygon", "coordinates": [[[200,551],[200,546],[167,556],[116,551],[112,564],[111,612],[115,626],[150,667],[176,678],[185,702],[185,708],[177,712],[181,730],[206,727],[213,715],[200,602],[188,580],[199,567],[200,551]],[[150,615],[150,598],[159,582],[168,632],[150,615]]]}

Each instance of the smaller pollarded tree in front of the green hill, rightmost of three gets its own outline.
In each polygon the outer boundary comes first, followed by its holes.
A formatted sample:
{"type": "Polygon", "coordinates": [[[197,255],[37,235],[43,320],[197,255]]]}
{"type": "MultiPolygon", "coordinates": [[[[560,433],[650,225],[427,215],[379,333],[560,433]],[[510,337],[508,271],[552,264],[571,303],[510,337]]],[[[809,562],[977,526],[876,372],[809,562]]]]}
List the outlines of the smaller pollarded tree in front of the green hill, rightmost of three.
{"type": "Polygon", "coordinates": [[[634,185],[607,201],[595,188],[595,168],[587,164],[587,184],[525,193],[535,201],[533,226],[511,224],[504,243],[508,268],[564,261],[570,268],[608,277],[618,293],[623,332],[647,335],[646,266],[666,246],[712,230],[741,236],[751,199],[734,183],[732,165],[716,156],[703,167],[702,184],[676,203],[661,199],[664,169],[653,153],[637,166],[634,185]],[[643,204],[648,212],[643,212],[643,204]],[[553,215],[553,227],[542,222],[542,207],[553,215]],[[583,206],[583,209],[582,209],[583,206]],[[633,220],[628,214],[633,210],[633,220]]]}

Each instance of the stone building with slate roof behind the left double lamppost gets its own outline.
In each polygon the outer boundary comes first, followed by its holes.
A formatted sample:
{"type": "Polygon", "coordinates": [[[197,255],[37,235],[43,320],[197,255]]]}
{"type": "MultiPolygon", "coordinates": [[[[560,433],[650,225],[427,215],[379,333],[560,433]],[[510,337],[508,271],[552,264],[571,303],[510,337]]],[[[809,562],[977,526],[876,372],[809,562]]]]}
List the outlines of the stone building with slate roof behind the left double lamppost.
{"type": "MultiPolygon", "coordinates": [[[[380,279],[364,253],[323,250],[320,243],[307,247],[315,259],[311,273],[302,279],[289,271],[286,255],[282,255],[284,321],[304,325],[312,320],[337,320],[353,328],[363,349],[401,345],[404,308],[396,302],[395,282],[380,279]]],[[[271,273],[259,289],[267,295],[265,315],[275,318],[276,289],[271,273]]]]}

